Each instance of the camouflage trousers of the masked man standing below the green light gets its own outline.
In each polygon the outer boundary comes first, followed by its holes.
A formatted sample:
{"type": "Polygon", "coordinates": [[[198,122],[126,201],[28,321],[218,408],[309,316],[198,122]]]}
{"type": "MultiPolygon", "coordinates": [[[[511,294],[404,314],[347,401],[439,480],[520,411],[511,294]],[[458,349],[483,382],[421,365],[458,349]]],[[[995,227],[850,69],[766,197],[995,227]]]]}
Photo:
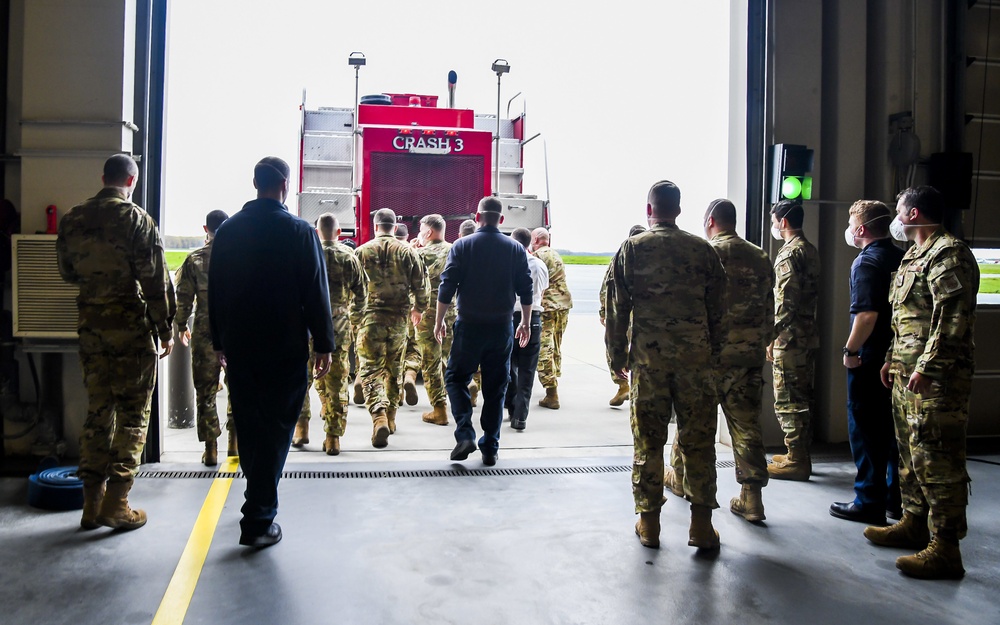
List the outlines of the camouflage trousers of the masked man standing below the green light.
{"type": "Polygon", "coordinates": [[[774,349],[774,413],[789,450],[808,449],[811,442],[809,411],[817,354],[815,349],[774,349]]]}

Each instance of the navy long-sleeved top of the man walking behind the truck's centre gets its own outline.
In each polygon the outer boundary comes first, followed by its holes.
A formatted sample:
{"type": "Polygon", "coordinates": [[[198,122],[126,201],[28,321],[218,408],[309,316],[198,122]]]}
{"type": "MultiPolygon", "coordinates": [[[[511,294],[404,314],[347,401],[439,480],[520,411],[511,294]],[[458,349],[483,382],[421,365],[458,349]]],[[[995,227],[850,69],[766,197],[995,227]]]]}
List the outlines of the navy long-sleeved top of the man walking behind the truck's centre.
{"type": "Polygon", "coordinates": [[[531,306],[524,247],[494,226],[482,226],[455,241],[441,272],[438,301],[449,304],[456,292],[460,320],[509,325],[516,297],[531,306]]]}

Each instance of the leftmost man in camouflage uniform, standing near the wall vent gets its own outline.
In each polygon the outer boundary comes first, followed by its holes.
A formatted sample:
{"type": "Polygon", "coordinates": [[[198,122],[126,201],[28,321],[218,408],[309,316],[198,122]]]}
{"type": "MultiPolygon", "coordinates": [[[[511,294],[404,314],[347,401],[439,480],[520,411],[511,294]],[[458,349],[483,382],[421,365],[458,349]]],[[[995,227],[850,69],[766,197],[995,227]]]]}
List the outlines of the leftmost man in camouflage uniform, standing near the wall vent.
{"type": "Polygon", "coordinates": [[[136,529],[146,513],[128,492],[146,443],[150,399],[160,358],[173,348],[176,313],[156,222],[129,201],[139,177],[135,161],[116,154],[104,163],[104,188],[59,223],[59,273],[80,287],[80,365],[89,405],[80,437],[83,481],[80,525],[136,529]]]}

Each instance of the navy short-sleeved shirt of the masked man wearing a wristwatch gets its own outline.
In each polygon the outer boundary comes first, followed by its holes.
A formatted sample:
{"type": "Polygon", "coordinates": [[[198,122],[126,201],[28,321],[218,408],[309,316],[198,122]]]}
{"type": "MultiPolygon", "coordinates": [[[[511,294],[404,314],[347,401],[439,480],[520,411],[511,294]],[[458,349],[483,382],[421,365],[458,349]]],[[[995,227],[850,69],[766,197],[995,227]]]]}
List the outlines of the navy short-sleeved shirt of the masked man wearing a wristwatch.
{"type": "Polygon", "coordinates": [[[889,349],[892,341],[889,286],[902,259],[903,250],[893,245],[891,239],[879,239],[866,245],[851,265],[851,324],[859,312],[878,313],[871,336],[861,346],[862,360],[876,358],[881,362],[889,349]]]}

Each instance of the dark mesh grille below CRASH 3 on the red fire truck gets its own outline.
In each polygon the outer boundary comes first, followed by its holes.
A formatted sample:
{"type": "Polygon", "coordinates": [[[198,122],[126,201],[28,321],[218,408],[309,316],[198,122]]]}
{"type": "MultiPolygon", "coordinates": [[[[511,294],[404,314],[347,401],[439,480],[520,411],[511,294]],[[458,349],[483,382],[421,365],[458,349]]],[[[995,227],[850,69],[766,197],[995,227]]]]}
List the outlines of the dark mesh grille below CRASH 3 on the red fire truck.
{"type": "Polygon", "coordinates": [[[470,217],[483,197],[483,157],[455,154],[373,153],[371,202],[374,212],[391,208],[397,216],[470,217]]]}

